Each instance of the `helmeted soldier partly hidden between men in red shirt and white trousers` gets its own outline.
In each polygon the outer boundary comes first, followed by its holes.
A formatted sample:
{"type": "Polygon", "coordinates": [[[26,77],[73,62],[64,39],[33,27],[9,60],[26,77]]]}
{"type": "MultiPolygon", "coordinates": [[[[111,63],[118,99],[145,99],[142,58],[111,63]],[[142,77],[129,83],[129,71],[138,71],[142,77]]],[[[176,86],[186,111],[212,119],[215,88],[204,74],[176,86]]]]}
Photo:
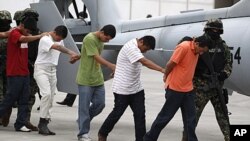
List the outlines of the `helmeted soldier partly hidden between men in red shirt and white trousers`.
{"type": "MultiPolygon", "coordinates": [[[[32,17],[38,21],[38,13],[31,9],[31,8],[26,8],[23,11],[16,11],[14,14],[14,20],[16,21],[16,24],[19,25],[21,20],[25,17],[32,17]]],[[[36,31],[32,31],[32,35],[38,35],[39,30],[37,29],[36,31]]],[[[31,117],[31,111],[32,107],[35,103],[36,97],[35,94],[39,92],[39,88],[36,84],[36,81],[33,77],[34,73],[34,63],[37,57],[37,51],[38,51],[38,43],[39,40],[28,42],[28,67],[29,67],[29,72],[30,72],[30,98],[29,98],[29,113],[28,113],[28,123],[26,125],[27,128],[31,129],[32,131],[38,131],[38,128],[30,123],[30,117],[31,117]]]]}

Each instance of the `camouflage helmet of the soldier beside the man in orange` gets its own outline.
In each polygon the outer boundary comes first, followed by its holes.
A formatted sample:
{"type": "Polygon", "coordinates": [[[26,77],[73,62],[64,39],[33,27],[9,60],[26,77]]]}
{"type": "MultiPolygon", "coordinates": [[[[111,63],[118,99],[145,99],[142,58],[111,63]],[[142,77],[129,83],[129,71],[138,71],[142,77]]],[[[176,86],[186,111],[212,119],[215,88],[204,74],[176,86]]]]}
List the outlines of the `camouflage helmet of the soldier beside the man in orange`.
{"type": "Polygon", "coordinates": [[[223,34],[223,23],[220,19],[209,19],[204,27],[204,31],[208,29],[217,29],[223,34]]]}

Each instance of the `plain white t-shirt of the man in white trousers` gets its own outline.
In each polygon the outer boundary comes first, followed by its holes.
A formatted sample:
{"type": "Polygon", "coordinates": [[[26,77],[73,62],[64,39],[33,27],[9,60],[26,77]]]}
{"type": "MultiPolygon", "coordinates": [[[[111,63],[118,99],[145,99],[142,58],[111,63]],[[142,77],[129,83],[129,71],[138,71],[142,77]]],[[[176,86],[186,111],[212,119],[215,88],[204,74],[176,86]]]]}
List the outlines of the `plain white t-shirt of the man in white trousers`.
{"type": "Polygon", "coordinates": [[[47,66],[57,66],[60,51],[51,49],[53,44],[64,45],[63,40],[60,42],[53,41],[51,36],[43,36],[38,45],[38,54],[35,64],[46,64],[47,66]]]}

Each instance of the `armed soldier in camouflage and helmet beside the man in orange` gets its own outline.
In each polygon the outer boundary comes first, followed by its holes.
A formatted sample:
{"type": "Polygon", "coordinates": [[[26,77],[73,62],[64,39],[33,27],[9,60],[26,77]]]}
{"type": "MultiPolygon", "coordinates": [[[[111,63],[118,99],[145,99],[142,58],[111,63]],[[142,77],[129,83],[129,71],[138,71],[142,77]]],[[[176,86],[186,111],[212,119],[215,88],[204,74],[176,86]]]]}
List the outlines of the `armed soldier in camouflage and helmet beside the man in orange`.
{"type": "MultiPolygon", "coordinates": [[[[210,36],[214,41],[213,47],[209,49],[209,55],[211,57],[214,71],[218,74],[218,84],[220,85],[220,88],[222,88],[225,79],[227,79],[232,72],[232,58],[229,47],[220,37],[220,35],[223,34],[223,24],[220,19],[210,19],[206,23],[204,31],[204,34],[210,36]]],[[[200,57],[193,80],[194,88],[196,90],[195,103],[197,124],[203,109],[210,100],[214,107],[216,119],[224,135],[224,139],[225,141],[230,141],[230,123],[227,108],[225,113],[225,111],[223,111],[223,102],[221,102],[219,97],[218,89],[208,87],[209,83],[211,83],[211,79],[206,77],[208,75],[211,75],[211,72],[204,60],[200,57]]],[[[187,140],[185,132],[182,140],[187,140]]]]}

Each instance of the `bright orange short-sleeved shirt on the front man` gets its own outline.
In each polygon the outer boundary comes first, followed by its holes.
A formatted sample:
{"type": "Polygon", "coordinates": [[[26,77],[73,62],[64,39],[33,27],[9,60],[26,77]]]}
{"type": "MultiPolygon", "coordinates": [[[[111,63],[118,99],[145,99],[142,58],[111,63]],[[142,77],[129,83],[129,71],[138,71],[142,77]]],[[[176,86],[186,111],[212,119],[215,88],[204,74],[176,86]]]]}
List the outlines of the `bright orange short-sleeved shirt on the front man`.
{"type": "Polygon", "coordinates": [[[194,41],[185,41],[177,45],[170,60],[177,65],[167,77],[165,87],[179,92],[193,90],[193,76],[198,61],[198,54],[194,54],[194,41]]]}

